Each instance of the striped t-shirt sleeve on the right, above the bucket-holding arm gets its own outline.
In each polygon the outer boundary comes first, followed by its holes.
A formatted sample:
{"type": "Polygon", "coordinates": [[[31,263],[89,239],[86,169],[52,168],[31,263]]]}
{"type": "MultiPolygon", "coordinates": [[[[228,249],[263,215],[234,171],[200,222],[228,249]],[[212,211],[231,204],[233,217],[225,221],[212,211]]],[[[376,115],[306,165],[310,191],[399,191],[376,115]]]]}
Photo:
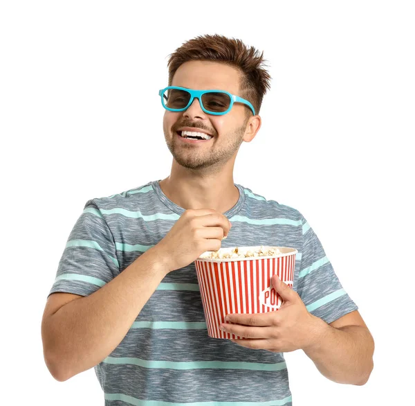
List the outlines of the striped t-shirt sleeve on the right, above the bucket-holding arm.
{"type": "Polygon", "coordinates": [[[343,289],[319,238],[302,216],[302,259],[297,293],[312,315],[331,323],[358,306],[343,289]]]}

